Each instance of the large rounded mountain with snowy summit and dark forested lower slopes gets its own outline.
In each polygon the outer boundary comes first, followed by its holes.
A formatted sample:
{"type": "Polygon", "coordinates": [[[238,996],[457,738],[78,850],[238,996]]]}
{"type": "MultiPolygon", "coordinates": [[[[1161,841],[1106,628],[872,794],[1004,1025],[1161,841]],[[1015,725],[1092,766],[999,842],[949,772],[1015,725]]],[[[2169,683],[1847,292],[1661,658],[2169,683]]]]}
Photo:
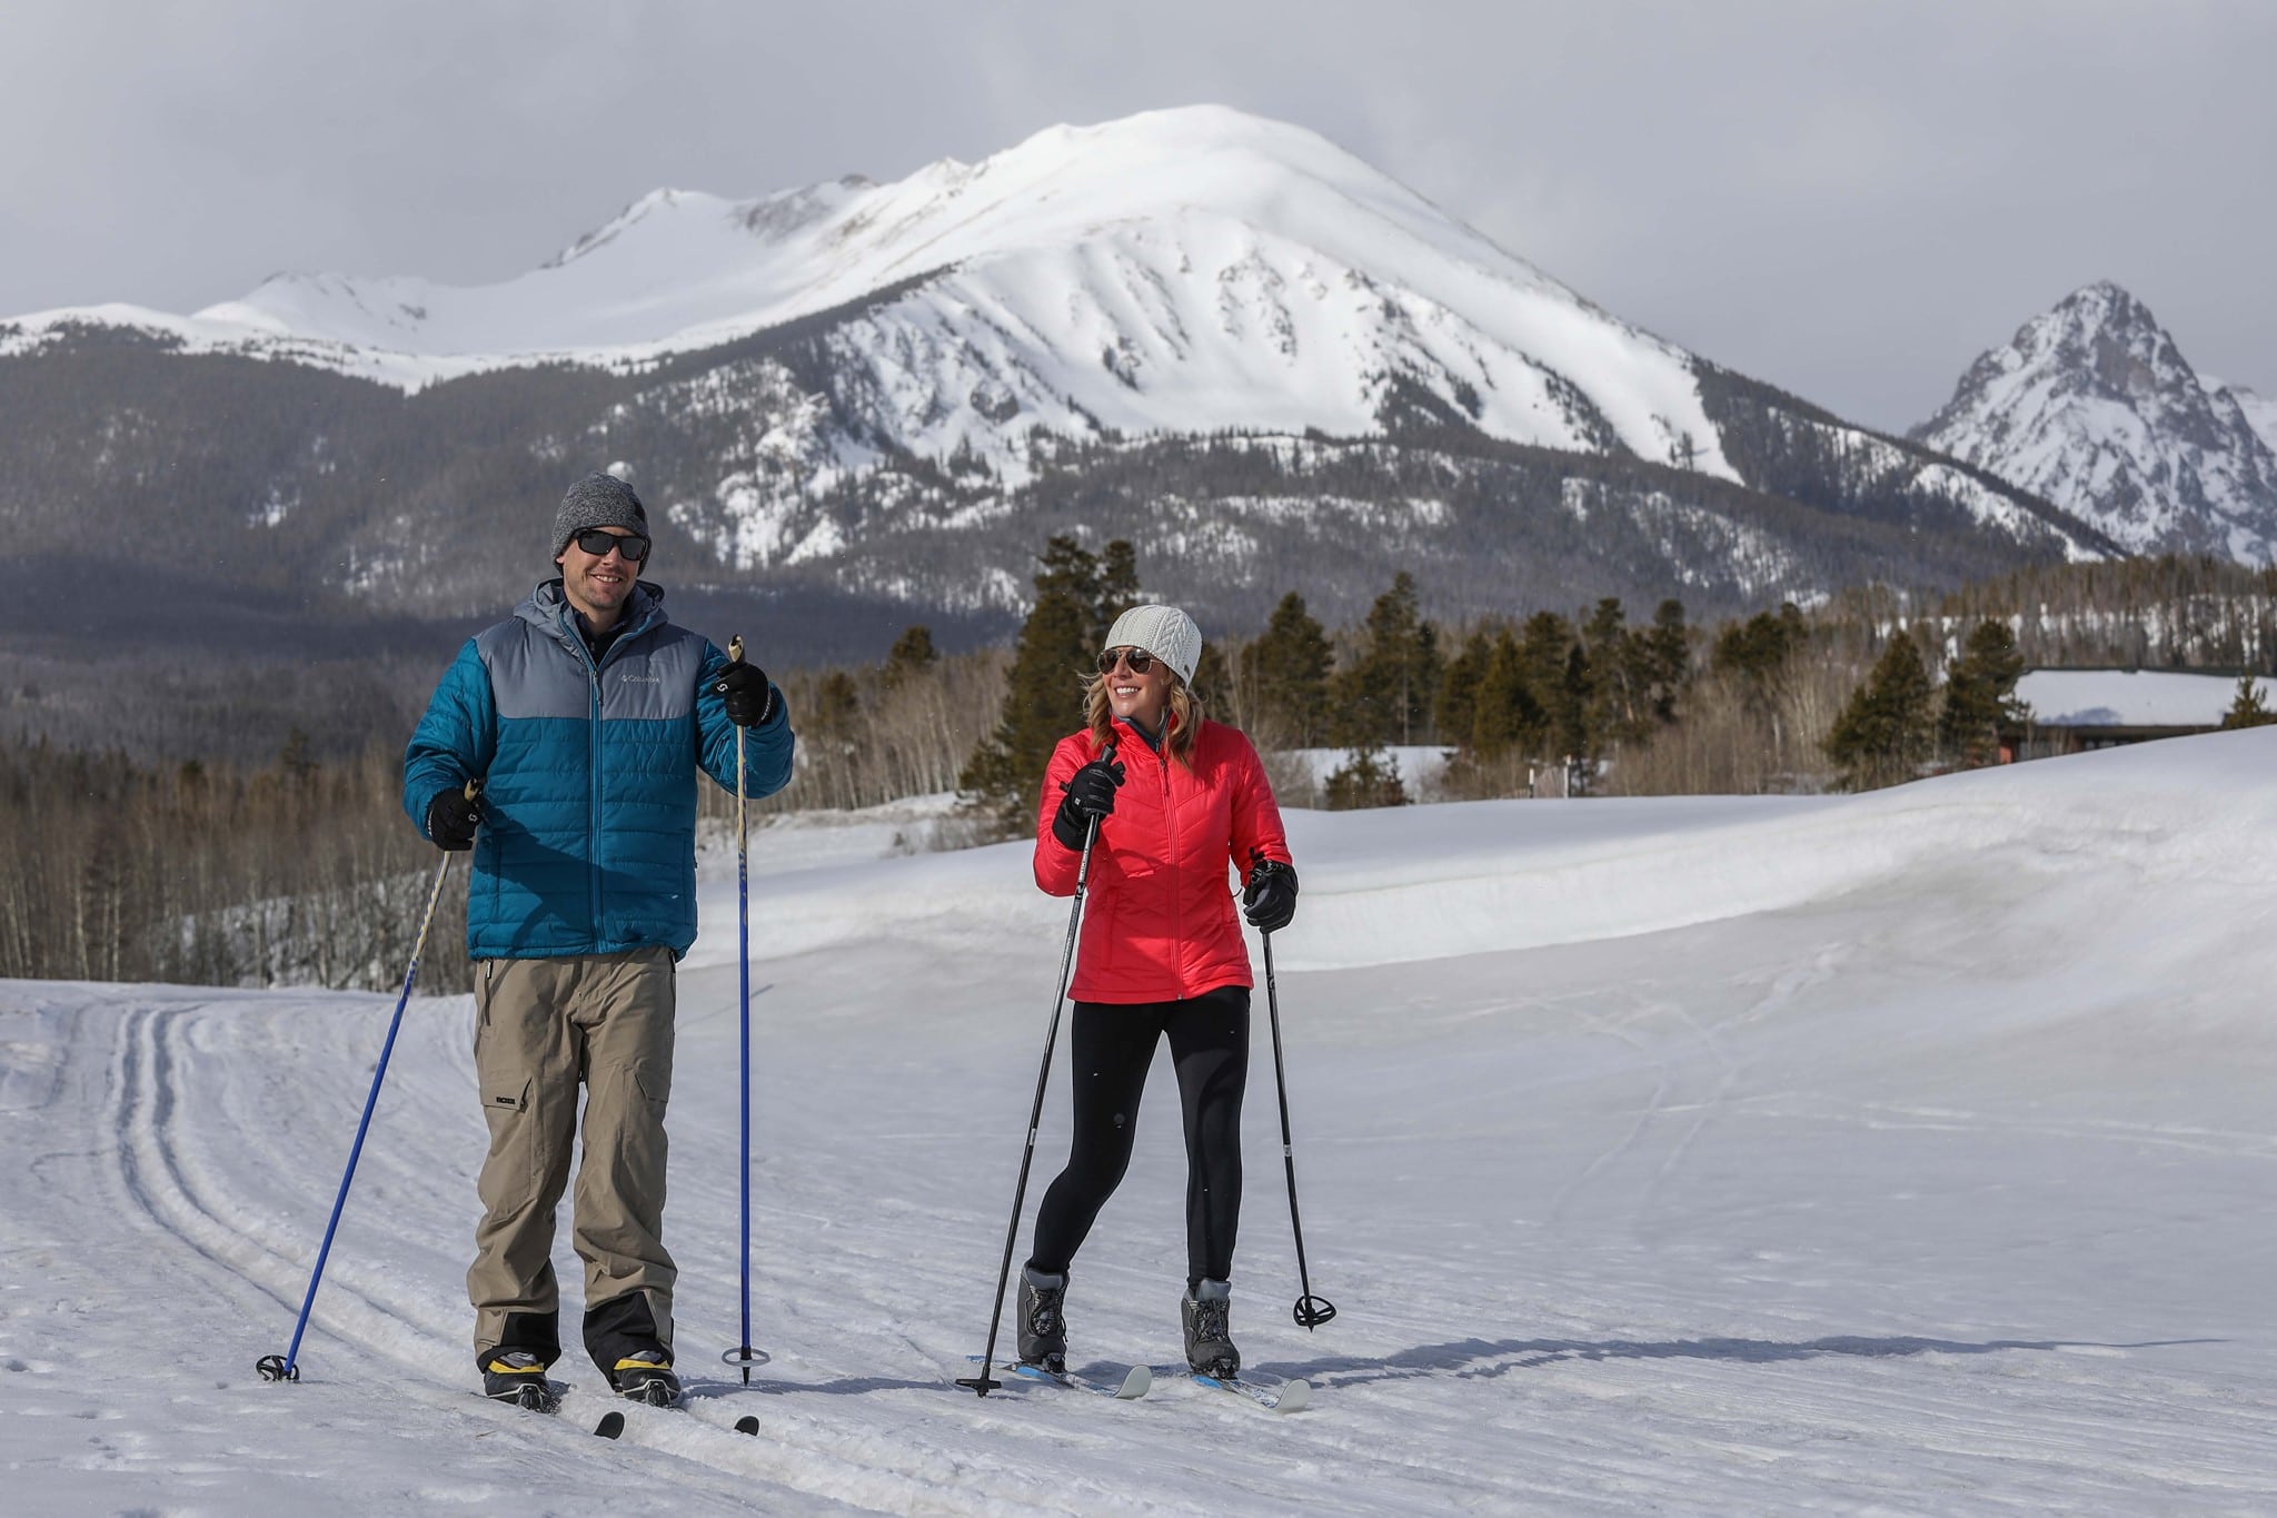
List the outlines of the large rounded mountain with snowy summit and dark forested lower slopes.
{"type": "Polygon", "coordinates": [[[1220,107],[895,184],[656,191],[501,284],[41,312],[0,321],[14,373],[39,405],[0,407],[0,451],[43,473],[0,478],[0,519],[57,535],[71,498],[61,546],[116,553],[191,512],[278,589],[419,612],[526,585],[519,512],[615,460],[681,574],[920,614],[1018,612],[1050,533],[1138,539],[1157,585],[1241,621],[1282,589],[1355,614],[1394,569],[1469,614],[2113,551],[1220,107]]]}

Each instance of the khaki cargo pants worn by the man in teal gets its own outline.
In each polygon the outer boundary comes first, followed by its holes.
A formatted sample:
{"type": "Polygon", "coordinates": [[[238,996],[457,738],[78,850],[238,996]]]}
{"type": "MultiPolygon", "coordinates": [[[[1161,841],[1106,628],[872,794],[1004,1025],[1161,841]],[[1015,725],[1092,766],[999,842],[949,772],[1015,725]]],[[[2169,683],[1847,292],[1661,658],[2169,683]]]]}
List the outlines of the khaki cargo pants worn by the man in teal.
{"type": "Polygon", "coordinates": [[[572,1238],[585,1261],[585,1345],[603,1370],[644,1340],[672,1347],[665,1252],[665,1102],[672,1097],[672,949],[483,960],[474,988],[474,1072],[490,1158],[474,1231],[476,1359],[558,1354],[553,1213],[585,1086],[585,1156],[572,1238]],[[603,1359],[606,1356],[606,1359],[603,1359]]]}

